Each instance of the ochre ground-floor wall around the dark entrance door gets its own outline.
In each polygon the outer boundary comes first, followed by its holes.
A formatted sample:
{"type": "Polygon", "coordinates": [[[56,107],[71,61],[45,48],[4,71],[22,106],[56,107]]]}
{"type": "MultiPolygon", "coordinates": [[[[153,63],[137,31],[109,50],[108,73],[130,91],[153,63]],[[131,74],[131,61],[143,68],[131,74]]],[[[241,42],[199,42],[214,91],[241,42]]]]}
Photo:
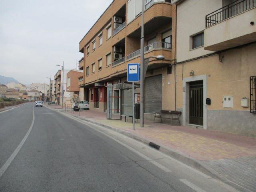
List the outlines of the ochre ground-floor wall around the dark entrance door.
{"type": "MultiPolygon", "coordinates": [[[[250,110],[241,106],[241,98],[250,98],[250,76],[256,75],[256,44],[244,48],[223,52],[223,62],[219,61],[218,54],[208,56],[176,67],[176,99],[177,108],[182,108],[182,74],[189,77],[194,70],[194,76],[207,76],[207,97],[211,98],[212,110],[250,110]],[[182,72],[183,65],[183,72],[182,72]],[[222,97],[233,96],[233,107],[223,108],[222,97]]],[[[250,99],[249,99],[250,100],[250,99]]],[[[205,103],[205,101],[204,101],[205,103]]]]}

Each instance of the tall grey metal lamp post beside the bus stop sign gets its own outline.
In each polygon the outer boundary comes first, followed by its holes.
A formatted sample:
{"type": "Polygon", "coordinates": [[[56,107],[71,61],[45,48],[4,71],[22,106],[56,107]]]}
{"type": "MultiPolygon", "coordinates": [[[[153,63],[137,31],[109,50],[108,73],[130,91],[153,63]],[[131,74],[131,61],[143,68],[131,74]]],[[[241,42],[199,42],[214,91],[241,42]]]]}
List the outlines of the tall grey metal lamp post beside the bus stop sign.
{"type": "Polygon", "coordinates": [[[141,8],[140,38],[140,127],[144,127],[144,0],[141,8]]]}

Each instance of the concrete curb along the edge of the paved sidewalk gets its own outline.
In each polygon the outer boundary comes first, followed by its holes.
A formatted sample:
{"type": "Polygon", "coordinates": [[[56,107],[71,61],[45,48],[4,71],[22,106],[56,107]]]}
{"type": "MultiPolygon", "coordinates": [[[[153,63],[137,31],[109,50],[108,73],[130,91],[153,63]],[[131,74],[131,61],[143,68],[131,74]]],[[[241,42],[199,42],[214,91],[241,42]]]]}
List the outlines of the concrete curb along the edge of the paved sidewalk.
{"type": "MultiPolygon", "coordinates": [[[[47,107],[49,108],[49,107],[47,107]]],[[[150,141],[148,141],[146,138],[143,138],[141,136],[136,136],[134,134],[131,134],[129,132],[126,132],[124,130],[120,130],[118,128],[114,128],[112,126],[108,126],[108,125],[105,125],[105,124],[102,124],[102,123],[99,123],[99,122],[95,122],[95,121],[92,121],[88,118],[84,118],[84,117],[81,117],[81,116],[77,116],[77,115],[74,115],[74,114],[69,114],[68,112],[65,112],[65,111],[61,111],[60,109],[52,109],[52,108],[49,108],[51,110],[57,110],[59,113],[64,113],[64,114],[68,114],[70,116],[73,116],[73,117],[76,117],[76,118],[79,118],[81,120],[85,120],[87,122],[90,122],[92,124],[96,124],[98,126],[102,126],[104,128],[108,128],[110,130],[113,130],[115,132],[118,132],[118,133],[121,133],[125,136],[128,136],[130,138],[133,138],[135,140],[138,140],[146,145],[149,144],[150,141]]],[[[192,167],[192,168],[195,168],[196,170],[199,170],[200,172],[203,172],[204,174],[208,175],[208,176],[211,176],[212,178],[216,178],[218,180],[221,180],[222,182],[238,189],[238,190],[242,190],[242,191],[248,191],[246,190],[245,188],[243,188],[242,186],[239,186],[237,185],[236,183],[228,180],[227,178],[225,178],[224,176],[220,175],[218,172],[216,172],[214,169],[212,169],[211,167],[209,167],[208,165],[206,165],[204,162],[200,161],[200,160],[196,160],[190,156],[187,156],[186,154],[182,153],[182,152],[179,152],[178,150],[173,150],[173,149],[170,149],[166,146],[160,146],[159,150],[161,152],[163,152],[164,154],[168,155],[168,156],[171,156],[172,158],[192,167]]],[[[248,191],[250,192],[250,191],[248,191]]]]}

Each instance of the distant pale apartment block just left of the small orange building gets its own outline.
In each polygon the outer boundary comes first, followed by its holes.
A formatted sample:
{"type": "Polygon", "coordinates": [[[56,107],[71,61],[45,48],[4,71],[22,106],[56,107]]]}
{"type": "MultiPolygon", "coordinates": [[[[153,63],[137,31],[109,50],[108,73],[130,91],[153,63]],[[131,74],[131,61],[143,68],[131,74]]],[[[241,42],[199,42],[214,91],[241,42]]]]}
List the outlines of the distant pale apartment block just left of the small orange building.
{"type": "Polygon", "coordinates": [[[63,103],[66,102],[66,98],[70,97],[70,93],[66,92],[67,73],[69,71],[70,70],[58,70],[54,75],[54,97],[58,105],[62,103],[62,84],[64,89],[63,103]]]}

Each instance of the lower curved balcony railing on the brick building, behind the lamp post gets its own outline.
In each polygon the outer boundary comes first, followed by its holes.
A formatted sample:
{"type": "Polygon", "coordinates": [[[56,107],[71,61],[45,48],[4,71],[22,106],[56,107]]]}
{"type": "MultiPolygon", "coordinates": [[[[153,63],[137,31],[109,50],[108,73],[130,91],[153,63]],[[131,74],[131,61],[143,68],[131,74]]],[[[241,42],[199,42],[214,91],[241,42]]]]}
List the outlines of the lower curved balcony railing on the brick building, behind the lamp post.
{"type": "MultiPolygon", "coordinates": [[[[144,53],[150,52],[155,49],[161,49],[161,48],[166,48],[166,49],[172,49],[172,44],[171,43],[166,43],[166,42],[154,42],[152,44],[149,44],[144,47],[144,53]]],[[[132,52],[131,54],[128,54],[126,56],[126,60],[130,60],[132,58],[135,58],[137,56],[140,56],[140,49],[132,52]]]]}

